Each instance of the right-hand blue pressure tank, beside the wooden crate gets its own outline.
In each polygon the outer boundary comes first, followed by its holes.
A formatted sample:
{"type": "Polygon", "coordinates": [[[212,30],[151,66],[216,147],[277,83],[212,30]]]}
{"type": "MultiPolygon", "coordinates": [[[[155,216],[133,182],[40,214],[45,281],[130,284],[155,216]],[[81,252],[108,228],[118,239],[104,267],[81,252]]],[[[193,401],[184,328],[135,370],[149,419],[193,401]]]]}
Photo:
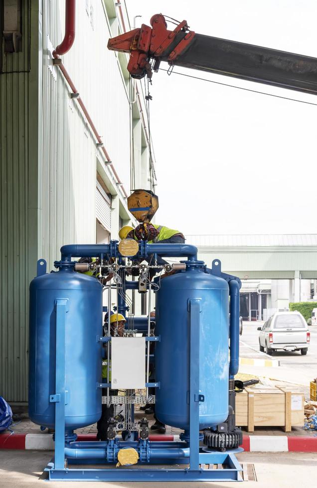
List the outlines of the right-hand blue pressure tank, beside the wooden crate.
{"type": "MultiPolygon", "coordinates": [[[[160,281],[156,293],[155,367],[156,416],[180,429],[189,429],[189,345],[190,314],[188,299],[201,299],[199,314],[199,428],[213,427],[228,417],[229,388],[229,287],[203,267],[188,266],[186,271],[160,281]]],[[[197,331],[198,333],[198,331],[197,331]]]]}

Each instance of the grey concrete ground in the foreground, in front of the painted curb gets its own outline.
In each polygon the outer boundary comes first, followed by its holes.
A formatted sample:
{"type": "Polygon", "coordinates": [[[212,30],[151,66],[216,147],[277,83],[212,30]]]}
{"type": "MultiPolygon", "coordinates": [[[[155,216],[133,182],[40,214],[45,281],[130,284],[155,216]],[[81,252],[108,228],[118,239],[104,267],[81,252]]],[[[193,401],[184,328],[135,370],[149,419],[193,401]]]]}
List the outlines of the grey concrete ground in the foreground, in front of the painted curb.
{"type": "MultiPolygon", "coordinates": [[[[133,487],[133,488],[168,488],[181,487],[182,483],[101,483],[101,482],[51,482],[45,481],[43,468],[51,459],[52,452],[14,451],[0,452],[0,487],[133,487]]],[[[257,482],[245,482],[247,488],[295,488],[299,486],[316,487],[317,453],[240,453],[240,463],[252,463],[255,467],[257,482]]],[[[186,483],[186,487],[210,486],[225,488],[239,486],[236,483],[186,483]]],[[[241,485],[240,485],[241,486],[241,485]]]]}

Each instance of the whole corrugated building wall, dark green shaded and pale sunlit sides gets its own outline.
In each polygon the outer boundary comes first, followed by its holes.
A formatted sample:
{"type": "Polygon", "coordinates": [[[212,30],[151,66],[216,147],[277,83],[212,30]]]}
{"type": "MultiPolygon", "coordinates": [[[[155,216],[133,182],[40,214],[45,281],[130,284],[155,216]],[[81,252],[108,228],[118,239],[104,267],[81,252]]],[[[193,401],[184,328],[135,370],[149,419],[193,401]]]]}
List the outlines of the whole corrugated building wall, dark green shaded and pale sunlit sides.
{"type": "MultiPolygon", "coordinates": [[[[96,141],[51,59],[64,36],[65,0],[21,4],[23,50],[7,56],[2,70],[10,73],[0,75],[0,394],[11,402],[27,401],[36,260],[50,270],[62,244],[96,242],[96,141]]],[[[107,50],[110,35],[104,2],[77,2],[75,42],[62,60],[129,192],[130,105],[119,57],[107,50]]],[[[126,204],[107,171],[116,237],[126,204]]]]}

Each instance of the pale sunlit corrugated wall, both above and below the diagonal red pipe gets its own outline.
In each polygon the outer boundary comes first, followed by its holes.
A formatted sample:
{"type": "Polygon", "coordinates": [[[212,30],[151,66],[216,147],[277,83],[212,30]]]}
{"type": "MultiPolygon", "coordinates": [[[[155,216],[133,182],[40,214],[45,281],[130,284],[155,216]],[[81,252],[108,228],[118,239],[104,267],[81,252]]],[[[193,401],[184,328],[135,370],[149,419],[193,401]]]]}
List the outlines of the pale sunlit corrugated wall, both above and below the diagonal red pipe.
{"type": "MultiPolygon", "coordinates": [[[[62,60],[128,190],[129,102],[117,57],[106,48],[102,2],[91,4],[92,23],[85,2],[77,2],[75,42],[62,60]]],[[[96,239],[95,137],[47,55],[64,35],[64,9],[64,0],[44,2],[42,229],[48,263],[59,257],[60,245],[96,239]]]]}

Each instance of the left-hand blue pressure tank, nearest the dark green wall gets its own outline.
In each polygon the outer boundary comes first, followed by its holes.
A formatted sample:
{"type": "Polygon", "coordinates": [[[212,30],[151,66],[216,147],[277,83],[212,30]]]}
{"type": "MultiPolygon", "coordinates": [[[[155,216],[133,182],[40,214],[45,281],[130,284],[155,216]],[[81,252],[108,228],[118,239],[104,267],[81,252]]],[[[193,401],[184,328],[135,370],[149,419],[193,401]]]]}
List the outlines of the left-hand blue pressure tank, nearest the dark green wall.
{"type": "MultiPolygon", "coordinates": [[[[66,298],[65,427],[77,429],[101,417],[102,286],[72,268],[44,274],[30,283],[29,417],[54,427],[57,298],[66,298]]],[[[59,358],[57,358],[58,367],[59,358]]]]}

